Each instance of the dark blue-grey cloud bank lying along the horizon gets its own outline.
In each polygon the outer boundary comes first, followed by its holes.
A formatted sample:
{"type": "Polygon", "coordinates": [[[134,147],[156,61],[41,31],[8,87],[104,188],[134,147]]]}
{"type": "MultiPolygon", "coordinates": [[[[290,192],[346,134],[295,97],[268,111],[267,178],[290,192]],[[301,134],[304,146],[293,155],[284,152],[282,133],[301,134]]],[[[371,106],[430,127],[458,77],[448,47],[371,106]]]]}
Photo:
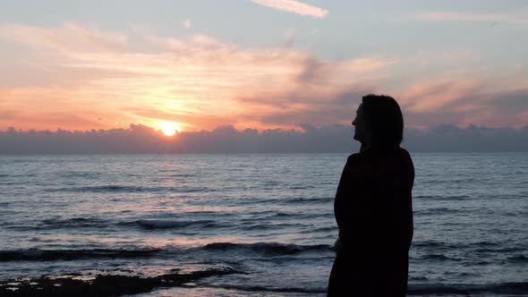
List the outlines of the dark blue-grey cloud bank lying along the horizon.
{"type": "MultiPolygon", "coordinates": [[[[302,126],[304,132],[221,126],[213,131],[181,132],[167,139],[147,126],[88,132],[0,132],[0,154],[121,154],[121,153],[319,153],[354,152],[353,128],[344,125],[302,126]]],[[[469,125],[407,129],[402,147],[415,152],[528,151],[528,125],[521,129],[469,125]]]]}

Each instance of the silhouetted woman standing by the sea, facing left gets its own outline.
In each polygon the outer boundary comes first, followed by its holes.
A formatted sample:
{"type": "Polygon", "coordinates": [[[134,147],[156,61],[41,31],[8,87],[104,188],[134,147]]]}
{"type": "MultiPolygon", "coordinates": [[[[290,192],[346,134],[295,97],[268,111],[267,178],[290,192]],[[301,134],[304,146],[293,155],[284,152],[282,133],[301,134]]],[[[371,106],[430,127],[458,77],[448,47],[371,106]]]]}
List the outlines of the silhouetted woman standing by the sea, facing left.
{"type": "Polygon", "coordinates": [[[403,115],[394,98],[368,95],[352,124],[362,146],[348,157],[334,200],[339,238],[328,296],[405,296],[414,166],[400,148],[403,115]]]}

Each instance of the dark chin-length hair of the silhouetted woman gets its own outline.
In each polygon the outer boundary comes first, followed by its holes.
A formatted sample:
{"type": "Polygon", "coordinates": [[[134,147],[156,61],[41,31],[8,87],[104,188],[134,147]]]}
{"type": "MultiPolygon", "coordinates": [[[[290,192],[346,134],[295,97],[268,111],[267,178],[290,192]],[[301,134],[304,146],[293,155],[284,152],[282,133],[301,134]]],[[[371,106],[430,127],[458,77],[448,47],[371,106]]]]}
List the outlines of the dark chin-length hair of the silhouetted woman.
{"type": "Polygon", "coordinates": [[[404,115],[394,98],[372,94],[364,96],[362,111],[372,133],[372,144],[397,146],[404,140],[404,115]]]}

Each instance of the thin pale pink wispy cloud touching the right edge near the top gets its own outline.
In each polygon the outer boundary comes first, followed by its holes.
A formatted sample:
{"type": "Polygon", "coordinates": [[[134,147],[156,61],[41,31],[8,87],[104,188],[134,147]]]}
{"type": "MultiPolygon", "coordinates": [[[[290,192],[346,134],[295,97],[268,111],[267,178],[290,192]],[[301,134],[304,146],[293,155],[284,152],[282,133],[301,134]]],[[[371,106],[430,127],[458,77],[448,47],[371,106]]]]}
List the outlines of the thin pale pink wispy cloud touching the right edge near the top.
{"type": "Polygon", "coordinates": [[[528,25],[527,15],[515,14],[428,12],[418,14],[417,18],[422,21],[487,21],[528,25]]]}

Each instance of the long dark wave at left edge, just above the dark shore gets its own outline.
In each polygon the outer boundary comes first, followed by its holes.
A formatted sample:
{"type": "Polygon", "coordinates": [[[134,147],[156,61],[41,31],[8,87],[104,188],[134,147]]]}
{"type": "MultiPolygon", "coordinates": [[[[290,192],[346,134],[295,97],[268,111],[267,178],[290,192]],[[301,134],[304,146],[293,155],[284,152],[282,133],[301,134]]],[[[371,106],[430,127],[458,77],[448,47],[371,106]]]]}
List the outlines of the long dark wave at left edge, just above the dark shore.
{"type": "Polygon", "coordinates": [[[7,261],[55,261],[76,259],[131,259],[147,258],[158,253],[158,249],[145,250],[0,250],[0,262],[7,261]]]}

